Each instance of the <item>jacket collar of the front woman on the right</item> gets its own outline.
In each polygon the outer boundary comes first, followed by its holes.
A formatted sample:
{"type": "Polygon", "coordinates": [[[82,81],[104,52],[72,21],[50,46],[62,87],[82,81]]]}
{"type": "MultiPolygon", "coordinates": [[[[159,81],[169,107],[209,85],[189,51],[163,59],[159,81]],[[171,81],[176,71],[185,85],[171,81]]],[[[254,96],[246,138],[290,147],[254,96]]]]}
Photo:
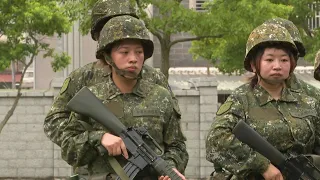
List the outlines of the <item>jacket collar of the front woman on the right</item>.
{"type": "MultiPolygon", "coordinates": [[[[274,100],[270,96],[270,94],[260,85],[256,85],[254,87],[253,94],[258,99],[260,106],[263,106],[268,102],[274,100]]],[[[279,101],[297,102],[298,99],[293,96],[292,92],[288,88],[284,87],[279,101]]]]}

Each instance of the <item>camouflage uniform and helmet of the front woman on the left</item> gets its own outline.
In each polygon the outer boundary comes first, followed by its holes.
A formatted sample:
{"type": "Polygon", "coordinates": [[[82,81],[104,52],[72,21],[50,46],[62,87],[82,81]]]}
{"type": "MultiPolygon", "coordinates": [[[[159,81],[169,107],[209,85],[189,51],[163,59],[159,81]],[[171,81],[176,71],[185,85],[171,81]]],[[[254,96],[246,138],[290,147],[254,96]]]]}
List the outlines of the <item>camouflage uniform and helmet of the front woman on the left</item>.
{"type": "MultiPolygon", "coordinates": [[[[117,16],[105,24],[99,37],[96,56],[105,58],[115,73],[126,78],[122,73],[125,73],[125,70],[117,69],[110,54],[107,53],[114,44],[123,39],[140,40],[145,59],[152,56],[153,42],[149,39],[142,21],[132,16],[117,16]]],[[[140,75],[143,76],[144,73],[143,70],[140,75]]],[[[164,149],[163,158],[168,164],[184,172],[189,156],[186,151],[186,138],[180,128],[181,114],[171,91],[150,82],[150,79],[138,77],[132,93],[121,93],[114,84],[110,71],[105,74],[102,82],[95,82],[88,87],[125,126],[145,127],[164,149]]],[[[75,168],[88,165],[90,176],[115,173],[107,161],[108,155],[99,153],[101,138],[108,132],[99,123],[72,113],[62,132],[60,135],[62,158],[70,165],[75,168]]],[[[153,145],[150,146],[157,150],[153,145]]],[[[127,162],[122,157],[117,159],[121,165],[127,162]]],[[[135,179],[142,177],[151,180],[157,179],[158,175],[152,169],[145,169],[135,179]]]]}

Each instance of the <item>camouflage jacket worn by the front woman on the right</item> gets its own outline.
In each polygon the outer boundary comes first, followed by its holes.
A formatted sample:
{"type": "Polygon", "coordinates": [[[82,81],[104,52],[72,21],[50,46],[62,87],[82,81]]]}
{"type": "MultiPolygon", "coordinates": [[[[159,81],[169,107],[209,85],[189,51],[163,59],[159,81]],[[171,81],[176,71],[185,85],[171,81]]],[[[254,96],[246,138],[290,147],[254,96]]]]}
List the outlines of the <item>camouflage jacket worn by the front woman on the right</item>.
{"type": "Polygon", "coordinates": [[[312,153],[319,144],[318,106],[316,99],[290,88],[284,88],[281,98],[274,100],[259,85],[242,85],[217,111],[207,135],[207,160],[239,179],[266,171],[269,160],[232,134],[240,120],[286,155],[312,153]]]}

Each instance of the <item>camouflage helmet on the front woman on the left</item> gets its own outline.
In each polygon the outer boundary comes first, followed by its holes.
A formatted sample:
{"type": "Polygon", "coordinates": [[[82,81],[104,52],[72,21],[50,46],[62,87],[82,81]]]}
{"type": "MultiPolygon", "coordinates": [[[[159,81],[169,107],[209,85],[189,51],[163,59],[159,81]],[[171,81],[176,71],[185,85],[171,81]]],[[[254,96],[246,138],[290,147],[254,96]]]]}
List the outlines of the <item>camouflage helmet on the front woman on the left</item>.
{"type": "Polygon", "coordinates": [[[144,58],[148,59],[152,56],[154,45],[150,40],[148,29],[139,19],[124,15],[114,17],[104,25],[98,40],[96,57],[102,59],[103,51],[110,51],[115,42],[123,39],[140,39],[144,58]]]}

